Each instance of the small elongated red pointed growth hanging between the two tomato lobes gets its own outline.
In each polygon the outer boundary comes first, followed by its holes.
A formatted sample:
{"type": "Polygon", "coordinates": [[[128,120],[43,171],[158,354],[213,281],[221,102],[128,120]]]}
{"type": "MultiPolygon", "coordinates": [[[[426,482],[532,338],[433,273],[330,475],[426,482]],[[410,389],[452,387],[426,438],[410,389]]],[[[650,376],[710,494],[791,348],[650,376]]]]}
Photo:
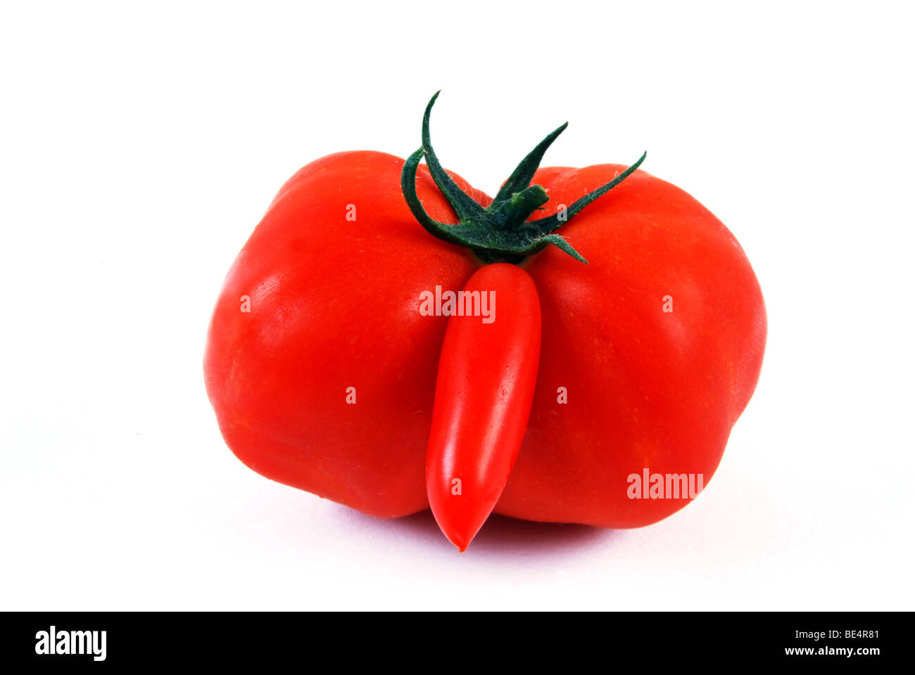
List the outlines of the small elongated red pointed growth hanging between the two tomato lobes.
{"type": "Polygon", "coordinates": [[[456,303],[438,361],[425,481],[438,526],[463,552],[499,501],[521,448],[541,324],[533,279],[509,263],[479,268],[456,303]]]}

